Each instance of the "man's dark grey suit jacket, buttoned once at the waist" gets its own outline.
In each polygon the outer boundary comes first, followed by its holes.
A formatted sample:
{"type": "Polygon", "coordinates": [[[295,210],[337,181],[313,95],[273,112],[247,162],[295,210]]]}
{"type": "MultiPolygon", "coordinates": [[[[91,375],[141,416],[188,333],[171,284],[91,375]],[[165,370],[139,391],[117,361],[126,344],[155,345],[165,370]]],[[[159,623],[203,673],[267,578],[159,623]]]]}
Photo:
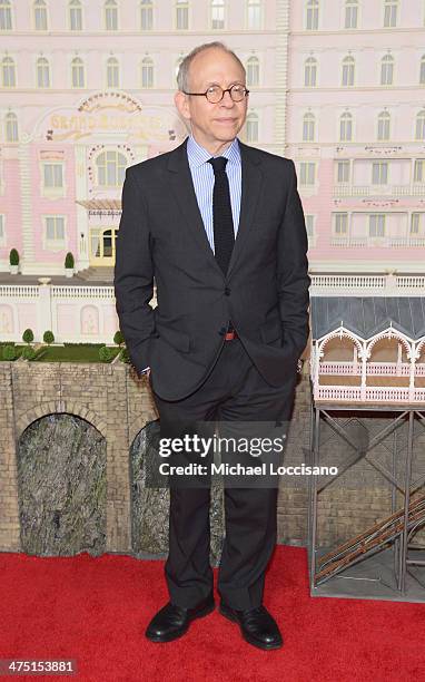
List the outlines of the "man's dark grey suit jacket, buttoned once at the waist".
{"type": "Polygon", "coordinates": [[[231,319],[265,380],[284,384],[309,332],[307,236],[294,163],[239,140],[240,218],[225,276],[205,232],[186,143],[127,168],[115,294],[130,360],[137,371],[151,368],[159,397],[184,398],[208,376],[231,319]]]}

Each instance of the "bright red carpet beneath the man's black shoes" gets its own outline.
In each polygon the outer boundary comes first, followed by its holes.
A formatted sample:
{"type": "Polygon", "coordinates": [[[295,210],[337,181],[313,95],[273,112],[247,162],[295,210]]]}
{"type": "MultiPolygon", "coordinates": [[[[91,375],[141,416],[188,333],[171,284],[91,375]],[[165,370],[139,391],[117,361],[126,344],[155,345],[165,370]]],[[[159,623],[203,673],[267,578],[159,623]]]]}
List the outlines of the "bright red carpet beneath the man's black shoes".
{"type": "Polygon", "coordinates": [[[0,659],[77,659],[79,669],[19,680],[425,680],[424,605],[312,598],[300,548],[278,546],[267,575],[265,604],[285,639],[271,652],[246,644],[218,613],[180,640],[148,642],[145,627],[167,601],[162,562],[0,553],[0,659]]]}

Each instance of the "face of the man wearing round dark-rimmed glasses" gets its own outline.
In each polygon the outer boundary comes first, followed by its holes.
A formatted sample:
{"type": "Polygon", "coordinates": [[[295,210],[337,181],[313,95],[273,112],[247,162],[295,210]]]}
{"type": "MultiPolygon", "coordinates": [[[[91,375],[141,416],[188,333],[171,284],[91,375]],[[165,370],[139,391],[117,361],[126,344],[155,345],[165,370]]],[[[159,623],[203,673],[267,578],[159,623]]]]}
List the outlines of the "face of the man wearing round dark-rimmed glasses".
{"type": "MultiPolygon", "coordinates": [[[[205,92],[211,85],[225,90],[235,84],[245,85],[245,75],[236,59],[217,48],[197,55],[189,69],[189,92],[205,92]]],[[[206,97],[176,94],[176,106],[191,124],[195,139],[214,152],[230,143],[243,127],[247,113],[247,100],[234,101],[226,92],[221,101],[211,104],[206,97]]]]}

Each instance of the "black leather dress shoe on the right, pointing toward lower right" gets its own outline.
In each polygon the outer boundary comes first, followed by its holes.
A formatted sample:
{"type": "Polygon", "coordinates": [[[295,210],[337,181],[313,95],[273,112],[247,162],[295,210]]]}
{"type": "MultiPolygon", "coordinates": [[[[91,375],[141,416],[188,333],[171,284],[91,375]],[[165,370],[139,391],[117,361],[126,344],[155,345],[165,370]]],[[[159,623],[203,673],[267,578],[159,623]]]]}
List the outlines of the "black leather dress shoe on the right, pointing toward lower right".
{"type": "Polygon", "coordinates": [[[283,646],[284,641],[277,623],[265,606],[236,611],[221,602],[219,612],[229,621],[239,623],[241,635],[249,644],[266,650],[283,646]]]}

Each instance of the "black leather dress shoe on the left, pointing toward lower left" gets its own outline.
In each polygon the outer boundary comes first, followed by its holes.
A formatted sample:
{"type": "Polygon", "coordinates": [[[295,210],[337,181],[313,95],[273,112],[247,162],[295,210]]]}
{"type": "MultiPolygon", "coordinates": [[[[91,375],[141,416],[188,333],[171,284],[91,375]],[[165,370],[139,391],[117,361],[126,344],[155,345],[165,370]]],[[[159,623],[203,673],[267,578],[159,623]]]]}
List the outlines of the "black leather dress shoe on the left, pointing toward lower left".
{"type": "Polygon", "coordinates": [[[201,618],[214,611],[212,593],[192,608],[184,608],[168,602],[150,621],[145,635],[151,642],[171,642],[188,631],[191,621],[201,618]]]}

